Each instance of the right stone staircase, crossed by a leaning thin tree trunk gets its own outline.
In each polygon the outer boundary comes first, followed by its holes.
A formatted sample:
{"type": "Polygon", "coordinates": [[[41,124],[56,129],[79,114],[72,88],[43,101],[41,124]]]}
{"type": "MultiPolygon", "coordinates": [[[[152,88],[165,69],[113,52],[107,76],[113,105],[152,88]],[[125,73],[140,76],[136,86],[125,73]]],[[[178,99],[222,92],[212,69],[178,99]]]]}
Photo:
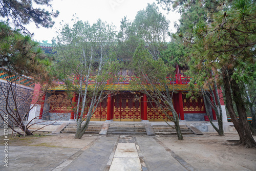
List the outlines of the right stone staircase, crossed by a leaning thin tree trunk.
{"type": "MultiPolygon", "coordinates": [[[[174,126],[174,125],[172,125],[174,126]]],[[[154,131],[155,131],[155,134],[156,135],[174,135],[174,134],[177,134],[176,133],[176,130],[173,129],[172,127],[170,127],[169,125],[152,125],[154,131]]],[[[181,133],[182,135],[185,135],[185,134],[194,134],[193,131],[191,131],[189,129],[189,127],[185,124],[180,124],[180,129],[181,129],[181,133]]]]}

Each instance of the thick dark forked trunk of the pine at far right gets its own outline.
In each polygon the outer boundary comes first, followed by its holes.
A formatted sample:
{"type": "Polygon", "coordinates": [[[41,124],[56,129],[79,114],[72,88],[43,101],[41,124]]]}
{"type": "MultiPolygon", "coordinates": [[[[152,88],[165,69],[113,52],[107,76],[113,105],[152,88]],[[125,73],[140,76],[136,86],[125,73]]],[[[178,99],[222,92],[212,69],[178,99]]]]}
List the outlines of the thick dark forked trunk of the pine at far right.
{"type": "Polygon", "coordinates": [[[245,145],[245,147],[247,148],[256,147],[256,142],[251,135],[249,123],[247,121],[245,106],[242,96],[240,94],[240,89],[236,81],[231,79],[231,74],[232,71],[227,70],[224,67],[222,68],[227,110],[234,124],[234,127],[236,128],[240,137],[240,140],[237,144],[245,145]],[[232,88],[233,99],[237,105],[237,110],[239,112],[239,119],[237,118],[236,113],[234,112],[233,109],[230,87],[232,88]]]}

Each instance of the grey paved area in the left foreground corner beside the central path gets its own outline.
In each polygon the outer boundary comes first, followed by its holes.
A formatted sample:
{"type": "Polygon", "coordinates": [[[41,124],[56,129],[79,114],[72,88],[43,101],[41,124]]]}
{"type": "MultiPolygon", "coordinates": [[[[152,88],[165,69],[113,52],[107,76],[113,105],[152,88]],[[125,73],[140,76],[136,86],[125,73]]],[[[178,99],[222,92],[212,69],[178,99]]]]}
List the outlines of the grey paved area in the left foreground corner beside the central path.
{"type": "Polygon", "coordinates": [[[8,167],[4,166],[4,146],[0,146],[0,170],[50,171],[67,160],[79,148],[55,148],[42,146],[8,146],[8,167]]]}

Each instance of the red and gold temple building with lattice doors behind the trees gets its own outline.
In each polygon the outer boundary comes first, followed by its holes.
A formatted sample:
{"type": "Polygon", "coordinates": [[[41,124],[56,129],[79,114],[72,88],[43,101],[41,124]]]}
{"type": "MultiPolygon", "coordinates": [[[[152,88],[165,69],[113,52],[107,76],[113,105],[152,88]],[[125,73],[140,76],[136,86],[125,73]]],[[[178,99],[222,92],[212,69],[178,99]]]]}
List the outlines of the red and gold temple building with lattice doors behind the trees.
{"type": "MultiPolygon", "coordinates": [[[[40,44],[41,49],[46,53],[52,53],[52,44],[48,44],[46,41],[40,44]]],[[[179,119],[185,121],[208,121],[206,116],[206,107],[202,97],[198,98],[186,98],[186,94],[189,91],[188,83],[190,78],[184,74],[183,68],[176,66],[175,78],[166,78],[169,80],[169,88],[174,91],[173,104],[176,112],[179,115],[179,119]]],[[[102,99],[98,104],[91,120],[92,121],[163,121],[167,117],[162,113],[154,101],[142,93],[142,90],[136,86],[131,86],[133,80],[133,71],[120,69],[116,75],[116,82],[106,83],[105,91],[114,90],[108,97],[102,99]]],[[[51,105],[47,99],[52,95],[62,95],[66,98],[66,87],[63,82],[58,82],[57,87],[51,88],[50,93],[46,93],[42,97],[42,102],[36,103],[35,98],[32,99],[32,105],[35,105],[34,109],[30,112],[30,118],[39,116],[39,119],[54,120],[61,116],[61,120],[74,120],[76,118],[75,113],[72,111],[70,104],[51,105]]],[[[93,78],[89,81],[89,84],[93,84],[93,78]]],[[[40,85],[35,84],[34,94],[40,91],[40,85]]],[[[219,90],[220,95],[222,93],[219,90]]],[[[78,96],[74,95],[72,101],[77,102],[78,96]]],[[[63,100],[64,101],[64,100],[63,100]]],[[[221,105],[223,109],[223,121],[227,122],[225,105],[223,98],[221,98],[221,105]]],[[[209,105],[208,105],[209,106],[209,105]]],[[[88,108],[84,110],[87,113],[88,108]]],[[[208,109],[211,119],[216,120],[216,114],[211,108],[208,109]]],[[[172,112],[167,111],[168,115],[172,116],[172,112]]]]}

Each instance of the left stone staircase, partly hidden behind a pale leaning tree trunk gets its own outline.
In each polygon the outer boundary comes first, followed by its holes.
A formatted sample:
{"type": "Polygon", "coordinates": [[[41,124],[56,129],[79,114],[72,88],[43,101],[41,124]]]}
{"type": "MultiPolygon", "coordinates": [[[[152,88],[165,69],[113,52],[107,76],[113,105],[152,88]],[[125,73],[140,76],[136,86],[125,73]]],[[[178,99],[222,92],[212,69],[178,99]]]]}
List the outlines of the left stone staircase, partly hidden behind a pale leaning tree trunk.
{"type": "MultiPolygon", "coordinates": [[[[83,123],[82,123],[83,125],[83,123]]],[[[90,122],[88,128],[84,134],[99,134],[101,130],[102,123],[94,123],[90,122]]],[[[70,123],[61,133],[69,133],[75,134],[76,133],[76,123],[70,123]]]]}

